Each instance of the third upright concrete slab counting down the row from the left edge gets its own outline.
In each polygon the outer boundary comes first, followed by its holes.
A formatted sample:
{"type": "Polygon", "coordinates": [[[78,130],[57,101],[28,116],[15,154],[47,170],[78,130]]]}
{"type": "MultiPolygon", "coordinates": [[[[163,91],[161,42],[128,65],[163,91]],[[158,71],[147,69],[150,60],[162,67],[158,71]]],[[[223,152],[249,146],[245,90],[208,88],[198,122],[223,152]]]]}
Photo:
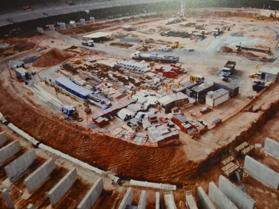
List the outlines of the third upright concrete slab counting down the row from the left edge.
{"type": "Polygon", "coordinates": [[[8,178],[13,181],[20,176],[37,158],[34,149],[25,152],[19,158],[15,159],[5,167],[8,178]]]}

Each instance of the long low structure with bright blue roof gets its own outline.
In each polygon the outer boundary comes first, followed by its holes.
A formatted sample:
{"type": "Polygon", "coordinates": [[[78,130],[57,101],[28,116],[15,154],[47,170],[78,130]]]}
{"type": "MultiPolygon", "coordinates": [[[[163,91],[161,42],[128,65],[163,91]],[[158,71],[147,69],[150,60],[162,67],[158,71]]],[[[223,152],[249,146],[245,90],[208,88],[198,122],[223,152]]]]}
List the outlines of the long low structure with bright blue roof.
{"type": "Polygon", "coordinates": [[[68,78],[65,78],[65,77],[57,78],[55,80],[55,83],[83,99],[86,99],[89,94],[94,93],[93,91],[91,91],[89,89],[76,85],[75,83],[73,83],[72,81],[70,81],[68,78]]]}

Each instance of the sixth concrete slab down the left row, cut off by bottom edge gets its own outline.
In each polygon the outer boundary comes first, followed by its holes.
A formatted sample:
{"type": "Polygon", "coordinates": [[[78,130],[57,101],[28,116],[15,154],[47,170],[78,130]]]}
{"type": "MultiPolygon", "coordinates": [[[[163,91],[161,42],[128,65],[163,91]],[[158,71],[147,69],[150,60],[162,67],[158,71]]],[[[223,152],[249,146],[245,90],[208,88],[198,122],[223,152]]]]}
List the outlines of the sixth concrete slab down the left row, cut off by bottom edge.
{"type": "Polygon", "coordinates": [[[78,209],[90,209],[99,198],[103,189],[104,189],[104,185],[103,185],[102,178],[100,177],[97,179],[97,181],[95,181],[91,189],[89,189],[85,197],[79,203],[78,209]]]}

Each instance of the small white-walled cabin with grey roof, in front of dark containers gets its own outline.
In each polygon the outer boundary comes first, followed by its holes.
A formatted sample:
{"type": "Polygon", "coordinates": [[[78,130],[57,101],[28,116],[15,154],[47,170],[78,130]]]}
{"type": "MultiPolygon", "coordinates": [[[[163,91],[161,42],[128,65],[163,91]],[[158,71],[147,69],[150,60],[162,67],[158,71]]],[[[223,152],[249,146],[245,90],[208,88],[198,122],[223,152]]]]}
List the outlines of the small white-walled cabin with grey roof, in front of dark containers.
{"type": "Polygon", "coordinates": [[[206,94],[206,104],[210,107],[216,107],[223,102],[228,101],[229,91],[225,89],[218,89],[217,91],[210,91],[206,94]]]}

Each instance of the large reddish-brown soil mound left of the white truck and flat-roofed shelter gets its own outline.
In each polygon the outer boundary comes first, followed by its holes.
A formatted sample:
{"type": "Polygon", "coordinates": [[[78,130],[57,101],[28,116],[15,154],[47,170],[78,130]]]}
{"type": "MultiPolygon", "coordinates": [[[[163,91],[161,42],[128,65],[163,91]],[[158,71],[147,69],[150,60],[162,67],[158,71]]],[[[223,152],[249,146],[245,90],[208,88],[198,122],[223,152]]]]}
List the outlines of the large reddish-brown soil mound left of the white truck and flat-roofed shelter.
{"type": "Polygon", "coordinates": [[[73,54],[53,48],[47,53],[43,54],[40,59],[33,63],[34,67],[49,67],[55,64],[59,64],[66,59],[73,57],[73,54]]]}

